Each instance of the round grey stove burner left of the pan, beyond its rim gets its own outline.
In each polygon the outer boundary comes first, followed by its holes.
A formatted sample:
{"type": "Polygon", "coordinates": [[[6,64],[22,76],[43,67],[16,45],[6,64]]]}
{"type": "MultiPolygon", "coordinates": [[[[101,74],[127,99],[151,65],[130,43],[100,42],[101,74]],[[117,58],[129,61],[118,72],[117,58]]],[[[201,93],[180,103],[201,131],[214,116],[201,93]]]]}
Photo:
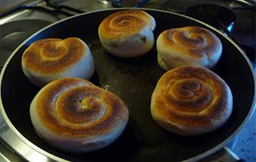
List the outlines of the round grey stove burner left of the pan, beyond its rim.
{"type": "Polygon", "coordinates": [[[0,26],[0,69],[9,55],[33,33],[48,26],[46,20],[15,20],[0,26]]]}

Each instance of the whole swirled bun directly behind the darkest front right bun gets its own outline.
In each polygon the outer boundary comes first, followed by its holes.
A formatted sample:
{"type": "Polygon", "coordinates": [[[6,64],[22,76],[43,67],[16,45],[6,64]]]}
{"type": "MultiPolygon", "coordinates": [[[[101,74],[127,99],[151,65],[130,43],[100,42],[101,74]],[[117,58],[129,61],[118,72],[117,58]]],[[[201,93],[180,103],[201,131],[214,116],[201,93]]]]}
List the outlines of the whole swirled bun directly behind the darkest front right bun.
{"type": "Polygon", "coordinates": [[[161,32],[156,49],[158,63],[165,70],[185,65],[211,69],[222,54],[222,43],[205,28],[186,26],[161,32]]]}

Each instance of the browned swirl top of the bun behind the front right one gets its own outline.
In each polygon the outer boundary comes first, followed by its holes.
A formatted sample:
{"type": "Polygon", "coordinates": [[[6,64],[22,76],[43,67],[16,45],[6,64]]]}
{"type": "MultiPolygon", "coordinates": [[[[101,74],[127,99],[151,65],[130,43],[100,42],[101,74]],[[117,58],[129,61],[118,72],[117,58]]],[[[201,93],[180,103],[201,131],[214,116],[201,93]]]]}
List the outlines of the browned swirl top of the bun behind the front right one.
{"type": "Polygon", "coordinates": [[[219,48],[218,38],[212,32],[198,26],[172,28],[163,32],[163,35],[163,43],[166,47],[182,50],[184,55],[211,57],[219,48]]]}

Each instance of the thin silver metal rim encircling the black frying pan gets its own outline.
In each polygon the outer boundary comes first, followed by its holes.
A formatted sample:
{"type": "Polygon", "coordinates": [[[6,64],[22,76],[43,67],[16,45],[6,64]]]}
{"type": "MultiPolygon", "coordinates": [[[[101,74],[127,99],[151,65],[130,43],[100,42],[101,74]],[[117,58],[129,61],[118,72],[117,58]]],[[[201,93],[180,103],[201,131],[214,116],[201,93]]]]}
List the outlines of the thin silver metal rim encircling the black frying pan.
{"type": "MultiPolygon", "coordinates": [[[[117,10],[124,10],[124,9],[134,9],[134,8],[119,8],[119,9],[98,9],[98,10],[95,10],[95,11],[90,11],[90,12],[87,12],[87,13],[84,13],[84,14],[94,14],[94,13],[98,13],[98,12],[104,12],[104,11],[117,11],[117,10]]],[[[247,114],[247,117],[246,119],[243,120],[243,122],[240,124],[240,126],[238,126],[238,128],[236,129],[236,131],[234,131],[228,138],[226,138],[223,142],[220,142],[218,145],[216,145],[215,147],[207,150],[207,152],[204,152],[204,153],[201,153],[201,154],[198,154],[196,155],[195,157],[192,157],[190,159],[186,159],[185,161],[196,161],[198,159],[202,159],[202,158],[205,158],[207,157],[208,155],[210,155],[211,153],[214,153],[216,151],[218,151],[218,149],[220,148],[223,148],[228,142],[230,142],[230,140],[237,135],[237,132],[239,132],[241,130],[241,128],[247,124],[248,120],[251,119],[252,115],[253,115],[253,112],[255,111],[255,104],[256,104],[256,92],[255,92],[255,87],[256,87],[256,83],[255,83],[255,80],[256,80],[256,77],[255,77],[255,73],[253,72],[253,65],[252,63],[249,61],[249,59],[247,58],[247,55],[243,52],[243,50],[231,39],[231,38],[228,38],[224,35],[224,33],[218,31],[218,29],[214,28],[213,26],[210,26],[208,25],[207,23],[204,23],[202,22],[201,20],[196,20],[192,17],[189,17],[187,15],[184,15],[184,14],[177,14],[177,13],[174,13],[172,11],[166,11],[166,10],[162,10],[162,9],[145,9],[145,8],[137,8],[137,9],[142,9],[142,10],[145,10],[145,11],[156,11],[156,12],[162,12],[162,13],[166,13],[166,14],[174,14],[174,15],[177,15],[177,16],[181,16],[185,19],[189,19],[189,20],[193,20],[203,26],[207,26],[209,28],[212,29],[212,31],[214,32],[218,32],[218,34],[220,34],[222,37],[224,37],[225,39],[227,39],[230,43],[232,43],[232,45],[234,45],[236,47],[236,49],[239,50],[239,52],[241,53],[241,55],[244,57],[244,59],[246,59],[247,61],[247,65],[250,67],[250,71],[252,72],[252,76],[253,76],[253,83],[254,83],[254,95],[253,95],[253,103],[252,103],[252,106],[250,108],[250,111],[248,112],[247,114]]],[[[45,26],[44,28],[42,28],[41,30],[39,30],[38,32],[35,32],[34,34],[32,34],[31,37],[29,38],[26,38],[26,40],[23,42],[23,43],[20,43],[20,45],[15,49],[15,51],[9,56],[9,59],[5,62],[4,66],[3,66],[3,69],[2,69],[2,72],[0,73],[0,115],[3,117],[3,120],[4,122],[7,124],[7,126],[9,127],[9,130],[12,131],[12,133],[14,134],[14,136],[17,137],[17,139],[19,139],[20,141],[22,141],[24,143],[24,145],[27,145],[29,148],[31,148],[33,151],[36,151],[37,153],[40,153],[40,154],[43,154],[45,157],[47,158],[50,158],[50,159],[55,159],[55,160],[66,160],[66,159],[62,159],[60,157],[57,157],[55,156],[54,154],[52,153],[49,153],[49,152],[46,152],[44,151],[44,149],[42,148],[39,148],[37,145],[35,145],[34,143],[28,141],[26,139],[25,136],[21,135],[21,133],[15,128],[15,126],[11,123],[11,121],[9,120],[9,117],[7,115],[7,113],[5,112],[4,110],[4,107],[3,107],[3,101],[2,101],[2,95],[1,95],[1,88],[2,88],[2,80],[3,80],[3,74],[7,68],[7,66],[9,65],[9,61],[12,60],[13,56],[16,54],[16,52],[22,47],[24,46],[24,44],[26,42],[28,42],[28,40],[30,40],[31,38],[33,38],[34,36],[38,35],[39,32],[42,32],[44,31],[45,29],[47,28],[50,28],[51,26],[55,26],[55,24],[59,24],[61,23],[62,21],[67,21],[67,20],[70,20],[70,19],[73,19],[75,17],[79,17],[79,16],[83,16],[84,14],[76,14],[74,16],[71,16],[71,17],[67,17],[66,19],[63,19],[63,20],[58,20],[52,24],[50,24],[49,26],[45,26]]],[[[1,118],[0,116],[0,118],[1,118]]],[[[1,137],[1,136],[0,136],[1,137]]],[[[20,153],[21,156],[22,156],[22,153],[20,153]]]]}

